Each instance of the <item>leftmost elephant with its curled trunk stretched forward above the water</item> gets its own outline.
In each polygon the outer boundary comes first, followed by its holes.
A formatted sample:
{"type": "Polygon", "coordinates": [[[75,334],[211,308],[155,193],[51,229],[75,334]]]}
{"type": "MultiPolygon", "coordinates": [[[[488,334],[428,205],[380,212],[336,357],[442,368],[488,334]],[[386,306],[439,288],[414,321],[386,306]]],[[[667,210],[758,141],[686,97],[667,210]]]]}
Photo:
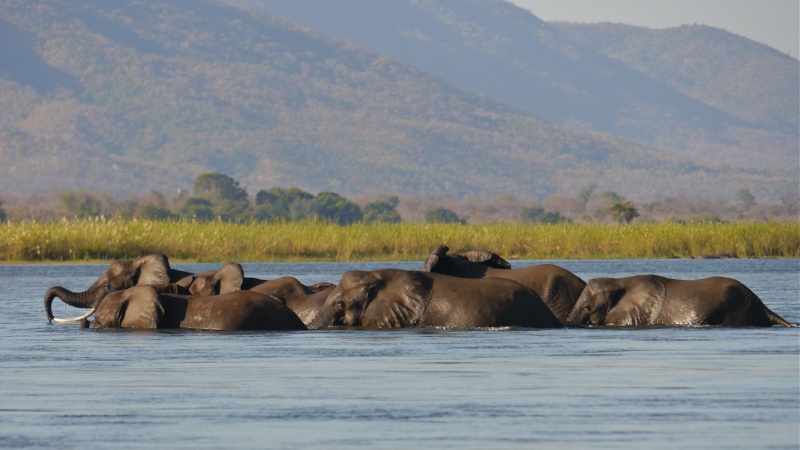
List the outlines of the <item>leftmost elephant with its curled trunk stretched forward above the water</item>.
{"type": "Polygon", "coordinates": [[[194,277],[191,272],[176,270],[169,266],[165,255],[142,255],[134,260],[114,261],[87,290],[72,292],[61,286],[53,286],[44,295],[44,309],[50,322],[77,322],[91,316],[103,297],[109,292],[127,289],[136,285],[177,283],[188,286],[194,277]],[[72,319],[53,317],[53,299],[59,297],[64,303],[76,308],[90,308],[86,314],[72,319]]]}

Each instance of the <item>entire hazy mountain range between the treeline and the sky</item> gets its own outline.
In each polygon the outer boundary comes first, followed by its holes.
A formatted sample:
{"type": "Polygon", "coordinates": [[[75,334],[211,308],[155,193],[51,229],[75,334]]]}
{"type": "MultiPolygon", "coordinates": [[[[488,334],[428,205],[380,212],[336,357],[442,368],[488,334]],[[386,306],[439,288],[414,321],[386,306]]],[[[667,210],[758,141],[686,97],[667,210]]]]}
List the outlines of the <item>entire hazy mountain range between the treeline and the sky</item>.
{"type": "Polygon", "coordinates": [[[797,192],[798,61],[500,0],[0,0],[0,192],[797,192]]]}

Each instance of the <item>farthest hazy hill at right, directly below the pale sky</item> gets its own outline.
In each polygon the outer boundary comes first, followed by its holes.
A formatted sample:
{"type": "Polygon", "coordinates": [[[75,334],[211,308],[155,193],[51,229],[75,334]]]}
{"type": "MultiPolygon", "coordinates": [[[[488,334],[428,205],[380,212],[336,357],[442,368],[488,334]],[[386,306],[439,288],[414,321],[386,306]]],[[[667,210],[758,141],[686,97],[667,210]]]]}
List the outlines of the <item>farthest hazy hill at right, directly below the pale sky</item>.
{"type": "MultiPolygon", "coordinates": [[[[719,143],[697,146],[701,161],[719,147],[733,163],[796,170],[800,65],[795,58],[702,25],[651,30],[622,24],[552,24],[582,48],[607,55],[741,122],[719,143]]],[[[709,130],[713,136],[714,130],[709,130]]],[[[687,151],[690,150],[687,148],[687,151]]]]}

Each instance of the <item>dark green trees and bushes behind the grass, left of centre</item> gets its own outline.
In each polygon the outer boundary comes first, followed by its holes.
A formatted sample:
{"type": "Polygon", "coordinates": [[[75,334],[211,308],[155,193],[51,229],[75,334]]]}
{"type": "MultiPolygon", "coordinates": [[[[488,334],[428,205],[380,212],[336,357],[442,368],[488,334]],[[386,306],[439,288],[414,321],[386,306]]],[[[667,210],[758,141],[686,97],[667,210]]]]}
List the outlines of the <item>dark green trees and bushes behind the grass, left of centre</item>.
{"type": "MultiPolygon", "coordinates": [[[[64,191],[58,194],[58,210],[32,211],[20,205],[7,214],[0,201],[0,220],[53,221],[61,218],[192,220],[200,222],[275,222],[319,220],[349,225],[352,223],[398,223],[402,221],[394,195],[381,195],[363,207],[335,192],[313,195],[297,187],[273,187],[258,191],[251,199],[239,182],[222,173],[205,173],[197,177],[192,195],[181,190],[173,199],[152,191],[139,199],[114,200],[89,191],[64,191]],[[61,213],[61,214],[59,214],[61,213]]],[[[425,214],[430,223],[465,223],[448,209],[432,208],[425,214]]]]}

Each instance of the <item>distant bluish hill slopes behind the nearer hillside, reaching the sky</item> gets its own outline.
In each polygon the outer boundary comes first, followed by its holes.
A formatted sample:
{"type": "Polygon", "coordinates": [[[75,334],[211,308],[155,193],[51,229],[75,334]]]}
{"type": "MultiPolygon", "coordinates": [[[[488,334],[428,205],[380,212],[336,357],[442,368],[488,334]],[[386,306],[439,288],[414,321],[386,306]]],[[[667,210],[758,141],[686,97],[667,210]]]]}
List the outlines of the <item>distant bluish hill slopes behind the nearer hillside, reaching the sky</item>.
{"type": "Polygon", "coordinates": [[[800,164],[797,59],[723,30],[547,23],[502,0],[231,1],[569,128],[690,161],[800,164]]]}

